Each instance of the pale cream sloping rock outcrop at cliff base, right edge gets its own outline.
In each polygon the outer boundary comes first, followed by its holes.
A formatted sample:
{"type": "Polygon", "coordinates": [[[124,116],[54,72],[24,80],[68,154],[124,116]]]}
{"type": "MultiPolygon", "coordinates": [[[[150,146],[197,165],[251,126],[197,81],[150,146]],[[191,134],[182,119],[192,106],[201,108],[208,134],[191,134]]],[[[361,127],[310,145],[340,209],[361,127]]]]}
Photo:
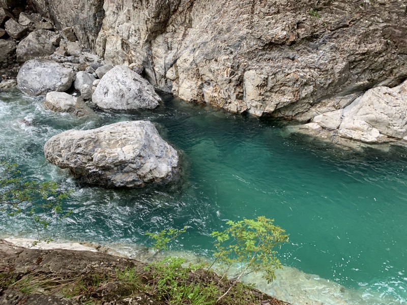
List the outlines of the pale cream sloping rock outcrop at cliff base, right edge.
{"type": "Polygon", "coordinates": [[[366,143],[407,141],[407,81],[394,88],[370,89],[344,109],[319,114],[297,129],[366,143]]]}

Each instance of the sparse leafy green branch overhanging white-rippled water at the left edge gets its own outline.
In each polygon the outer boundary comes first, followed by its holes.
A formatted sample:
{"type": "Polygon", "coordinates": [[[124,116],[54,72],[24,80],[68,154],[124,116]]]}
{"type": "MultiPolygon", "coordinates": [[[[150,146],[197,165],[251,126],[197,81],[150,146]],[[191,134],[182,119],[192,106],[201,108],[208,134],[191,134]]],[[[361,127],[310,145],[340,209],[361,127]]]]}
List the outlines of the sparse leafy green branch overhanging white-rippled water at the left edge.
{"type": "Polygon", "coordinates": [[[20,176],[17,164],[0,162],[0,211],[8,216],[25,213],[31,217],[39,232],[47,228],[52,218],[67,217],[62,203],[70,192],[61,192],[56,182],[25,181],[20,176]],[[45,212],[45,216],[39,216],[45,212]]]}

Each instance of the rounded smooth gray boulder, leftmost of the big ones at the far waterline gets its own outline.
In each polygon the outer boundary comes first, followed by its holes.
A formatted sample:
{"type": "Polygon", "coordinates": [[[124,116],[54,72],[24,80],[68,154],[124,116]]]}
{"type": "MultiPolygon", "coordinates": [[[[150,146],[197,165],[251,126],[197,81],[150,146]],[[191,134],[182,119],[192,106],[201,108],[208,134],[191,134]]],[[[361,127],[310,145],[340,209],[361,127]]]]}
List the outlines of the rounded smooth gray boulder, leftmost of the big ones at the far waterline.
{"type": "Polygon", "coordinates": [[[17,87],[25,94],[39,96],[48,92],[65,92],[73,82],[73,69],[47,59],[26,62],[17,75],[17,87]]]}

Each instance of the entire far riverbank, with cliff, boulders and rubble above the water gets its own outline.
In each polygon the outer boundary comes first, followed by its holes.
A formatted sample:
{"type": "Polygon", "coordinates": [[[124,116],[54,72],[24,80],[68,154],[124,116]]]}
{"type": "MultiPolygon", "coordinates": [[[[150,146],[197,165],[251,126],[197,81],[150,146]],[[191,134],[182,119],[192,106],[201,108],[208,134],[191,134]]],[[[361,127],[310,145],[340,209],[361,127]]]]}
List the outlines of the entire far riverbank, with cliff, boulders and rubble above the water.
{"type": "Polygon", "coordinates": [[[341,145],[405,145],[407,99],[393,88],[407,77],[406,8],[396,0],[3,0],[0,64],[8,72],[0,87],[15,85],[8,78],[18,63],[47,58],[55,63],[20,70],[23,92],[66,91],[76,78],[84,100],[131,110],[156,107],[156,88],[231,112],[295,119],[306,125],[290,132],[341,145]],[[101,80],[113,65],[122,68],[101,80]],[[373,100],[399,105],[395,115],[370,99],[375,88],[373,100]]]}

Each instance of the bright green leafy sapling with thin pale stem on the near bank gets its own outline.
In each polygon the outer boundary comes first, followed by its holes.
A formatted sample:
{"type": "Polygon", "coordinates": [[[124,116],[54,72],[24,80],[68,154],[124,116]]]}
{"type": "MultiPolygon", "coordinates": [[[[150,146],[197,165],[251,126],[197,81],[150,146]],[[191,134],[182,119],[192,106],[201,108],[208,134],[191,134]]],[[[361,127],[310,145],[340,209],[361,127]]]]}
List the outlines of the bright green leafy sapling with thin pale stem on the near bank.
{"type": "MultiPolygon", "coordinates": [[[[273,224],[274,220],[264,216],[256,220],[244,219],[238,222],[228,221],[229,226],[222,232],[212,232],[216,237],[215,262],[225,268],[225,274],[232,264],[240,263],[241,272],[229,289],[218,298],[224,297],[242,276],[251,272],[263,271],[268,283],[275,280],[276,269],[281,268],[276,257],[276,248],[288,241],[285,231],[273,224]]],[[[212,264],[213,265],[213,264],[212,264]]]]}

